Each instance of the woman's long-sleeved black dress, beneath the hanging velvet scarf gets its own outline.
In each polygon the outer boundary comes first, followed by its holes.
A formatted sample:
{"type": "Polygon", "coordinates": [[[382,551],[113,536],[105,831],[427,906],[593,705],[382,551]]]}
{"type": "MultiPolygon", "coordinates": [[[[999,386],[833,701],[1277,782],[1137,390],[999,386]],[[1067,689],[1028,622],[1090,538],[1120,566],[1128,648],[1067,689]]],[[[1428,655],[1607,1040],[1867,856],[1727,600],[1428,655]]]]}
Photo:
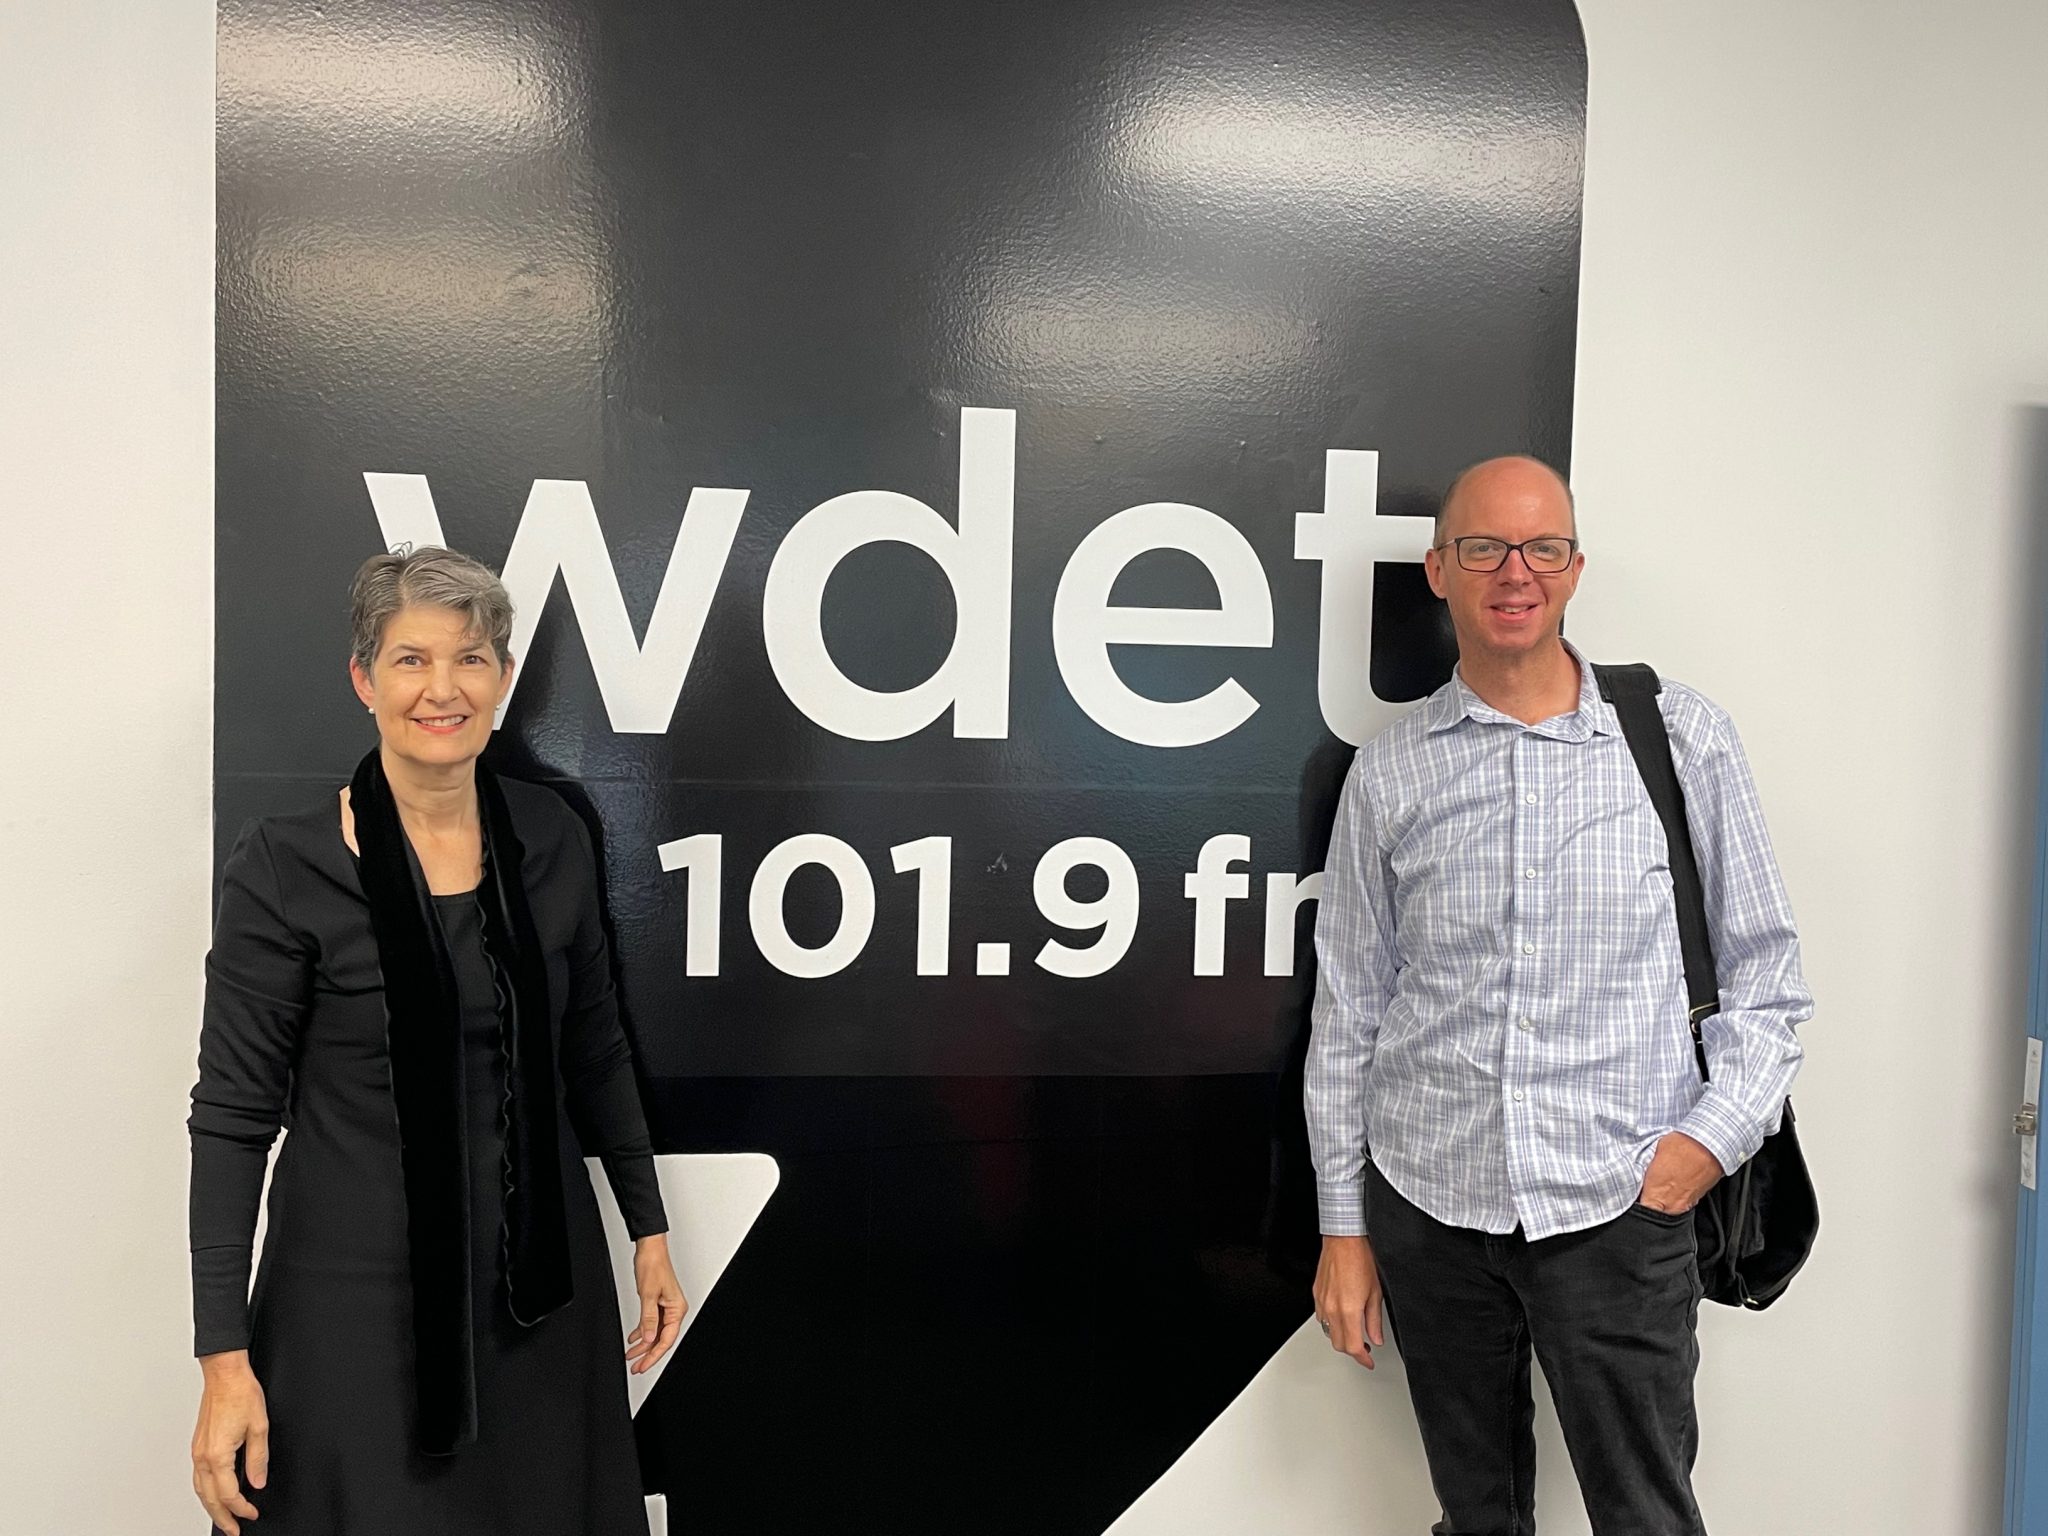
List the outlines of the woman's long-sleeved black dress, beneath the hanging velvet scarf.
{"type": "Polygon", "coordinates": [[[639,1536],[625,1339],[584,1151],[633,1237],[664,1231],[584,827],[506,782],[547,956],[573,1300],[506,1309],[504,977],[475,895],[434,897],[461,997],[477,1440],[414,1450],[412,1294],[383,979],[338,813],[254,821],[229,856],[193,1090],[197,1354],[248,1348],[270,1413],[260,1536],[639,1536]],[[254,1296],[250,1239],[276,1159],[254,1296]]]}

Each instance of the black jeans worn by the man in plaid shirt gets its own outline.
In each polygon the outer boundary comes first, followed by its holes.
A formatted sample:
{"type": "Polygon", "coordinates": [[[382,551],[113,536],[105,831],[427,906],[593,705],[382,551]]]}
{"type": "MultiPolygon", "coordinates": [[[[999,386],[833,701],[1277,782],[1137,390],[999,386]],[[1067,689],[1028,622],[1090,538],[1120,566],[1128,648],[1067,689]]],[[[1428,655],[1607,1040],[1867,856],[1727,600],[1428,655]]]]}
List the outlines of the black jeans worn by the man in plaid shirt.
{"type": "Polygon", "coordinates": [[[1528,1241],[1446,1227],[1370,1163],[1366,1219],[1407,1366],[1436,1536],[1532,1536],[1542,1360],[1595,1536],[1704,1536],[1692,1497],[1700,1446],[1700,1268],[1692,1214],[1634,1206],[1528,1241]]]}

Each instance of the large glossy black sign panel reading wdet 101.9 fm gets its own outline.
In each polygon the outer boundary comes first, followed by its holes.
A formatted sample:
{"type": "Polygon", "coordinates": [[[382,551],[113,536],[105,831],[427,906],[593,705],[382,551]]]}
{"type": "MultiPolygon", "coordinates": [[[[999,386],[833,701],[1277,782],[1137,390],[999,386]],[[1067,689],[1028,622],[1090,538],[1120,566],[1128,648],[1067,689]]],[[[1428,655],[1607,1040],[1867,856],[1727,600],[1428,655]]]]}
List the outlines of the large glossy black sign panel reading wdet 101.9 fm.
{"type": "Polygon", "coordinates": [[[1098,1532],[1307,1315],[1335,786],[1569,457],[1583,106],[1563,0],[223,2],[217,829],[369,745],[365,555],[504,567],[657,1143],[782,1167],[678,1530],[1098,1532]]]}

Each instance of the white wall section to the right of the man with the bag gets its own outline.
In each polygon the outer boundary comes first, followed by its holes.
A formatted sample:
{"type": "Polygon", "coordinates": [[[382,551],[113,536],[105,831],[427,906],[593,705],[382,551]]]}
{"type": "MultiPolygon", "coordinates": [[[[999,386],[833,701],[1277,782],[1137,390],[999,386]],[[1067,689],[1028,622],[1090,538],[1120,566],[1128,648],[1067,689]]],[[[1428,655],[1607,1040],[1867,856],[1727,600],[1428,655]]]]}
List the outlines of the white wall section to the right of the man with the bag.
{"type": "Polygon", "coordinates": [[[1587,6],[1581,633],[1737,717],[1825,1243],[1706,1335],[1720,1530],[1999,1528],[2048,506],[2048,6],[1587,6]],[[2032,408],[2032,418],[2028,416],[2032,408]],[[1694,541],[1694,543],[1686,543],[1694,541]]]}

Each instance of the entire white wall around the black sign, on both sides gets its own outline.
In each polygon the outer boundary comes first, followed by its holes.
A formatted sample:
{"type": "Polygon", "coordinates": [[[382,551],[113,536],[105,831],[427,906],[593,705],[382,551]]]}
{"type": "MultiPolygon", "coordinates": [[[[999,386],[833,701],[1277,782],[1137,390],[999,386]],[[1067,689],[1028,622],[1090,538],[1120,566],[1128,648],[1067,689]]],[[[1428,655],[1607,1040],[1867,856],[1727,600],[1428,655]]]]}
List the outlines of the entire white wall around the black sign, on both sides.
{"type": "MultiPolygon", "coordinates": [[[[2048,406],[2048,6],[1583,10],[1573,633],[1735,711],[1821,1001],[1798,1100],[1827,1231],[1778,1311],[1706,1319],[1702,1497],[1722,1536],[1980,1536],[2042,639],[2021,453],[2048,406]]],[[[0,20],[6,1536],[195,1528],[211,27],[205,0],[0,20]]],[[[1122,1530],[1413,1536],[1399,1393],[1290,1348],[1122,1530]]],[[[1548,1452],[1544,1530],[1583,1530],[1548,1452]]]]}

